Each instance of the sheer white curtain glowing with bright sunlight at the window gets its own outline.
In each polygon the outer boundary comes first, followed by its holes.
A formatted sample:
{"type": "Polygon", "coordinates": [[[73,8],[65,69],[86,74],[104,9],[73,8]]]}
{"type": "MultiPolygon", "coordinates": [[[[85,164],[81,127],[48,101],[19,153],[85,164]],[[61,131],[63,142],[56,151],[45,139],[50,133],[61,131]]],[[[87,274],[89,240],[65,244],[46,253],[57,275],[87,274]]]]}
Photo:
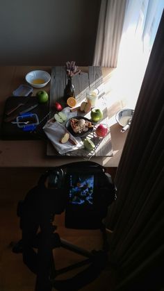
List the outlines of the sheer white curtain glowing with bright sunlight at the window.
{"type": "Polygon", "coordinates": [[[163,8],[163,0],[127,3],[115,78],[126,99],[124,103],[130,108],[136,106],[163,8]]]}

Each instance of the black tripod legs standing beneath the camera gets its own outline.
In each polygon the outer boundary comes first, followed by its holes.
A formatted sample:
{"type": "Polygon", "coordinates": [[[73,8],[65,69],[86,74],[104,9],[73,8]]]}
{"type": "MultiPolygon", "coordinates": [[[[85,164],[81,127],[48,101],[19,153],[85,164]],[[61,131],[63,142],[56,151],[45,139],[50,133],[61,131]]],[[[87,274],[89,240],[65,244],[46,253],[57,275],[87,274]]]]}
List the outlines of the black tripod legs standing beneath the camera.
{"type": "MultiPolygon", "coordinates": [[[[54,214],[51,214],[51,218],[49,220],[49,227],[46,226],[46,233],[42,233],[42,228],[40,233],[35,235],[33,238],[33,242],[31,242],[31,247],[38,249],[38,269],[35,269],[32,260],[31,264],[29,264],[23,254],[24,263],[37,275],[36,283],[35,283],[35,291],[51,291],[52,288],[56,288],[56,290],[79,290],[84,285],[92,282],[99,276],[102,269],[106,266],[107,260],[107,251],[108,251],[108,242],[106,238],[106,228],[103,223],[101,223],[101,234],[103,238],[103,245],[101,250],[99,251],[88,251],[81,247],[77,247],[75,244],[60,238],[60,235],[56,233],[57,227],[54,226],[54,214]],[[46,237],[45,237],[46,235],[46,237]],[[45,243],[45,240],[47,243],[45,243]],[[62,247],[67,249],[68,251],[72,251],[85,257],[78,263],[74,263],[72,265],[68,265],[67,267],[63,267],[61,269],[56,269],[55,258],[53,255],[53,250],[56,248],[62,247]],[[69,278],[67,280],[56,280],[58,276],[61,274],[65,274],[73,269],[78,269],[86,265],[86,268],[76,274],[73,278],[69,278]]],[[[20,240],[15,247],[13,247],[13,252],[19,253],[22,252],[22,240],[20,240]]],[[[27,253],[27,257],[29,257],[29,253],[27,253]]]]}

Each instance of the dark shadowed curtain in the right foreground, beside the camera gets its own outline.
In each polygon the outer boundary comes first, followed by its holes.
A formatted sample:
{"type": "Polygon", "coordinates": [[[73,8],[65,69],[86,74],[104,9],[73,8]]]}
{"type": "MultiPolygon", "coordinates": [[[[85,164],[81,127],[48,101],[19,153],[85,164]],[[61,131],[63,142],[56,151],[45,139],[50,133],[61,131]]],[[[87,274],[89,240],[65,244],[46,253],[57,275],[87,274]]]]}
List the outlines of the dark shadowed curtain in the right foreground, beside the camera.
{"type": "Polygon", "coordinates": [[[106,217],[119,291],[155,291],[164,283],[163,27],[164,13],[117,169],[117,200],[106,217]]]}

